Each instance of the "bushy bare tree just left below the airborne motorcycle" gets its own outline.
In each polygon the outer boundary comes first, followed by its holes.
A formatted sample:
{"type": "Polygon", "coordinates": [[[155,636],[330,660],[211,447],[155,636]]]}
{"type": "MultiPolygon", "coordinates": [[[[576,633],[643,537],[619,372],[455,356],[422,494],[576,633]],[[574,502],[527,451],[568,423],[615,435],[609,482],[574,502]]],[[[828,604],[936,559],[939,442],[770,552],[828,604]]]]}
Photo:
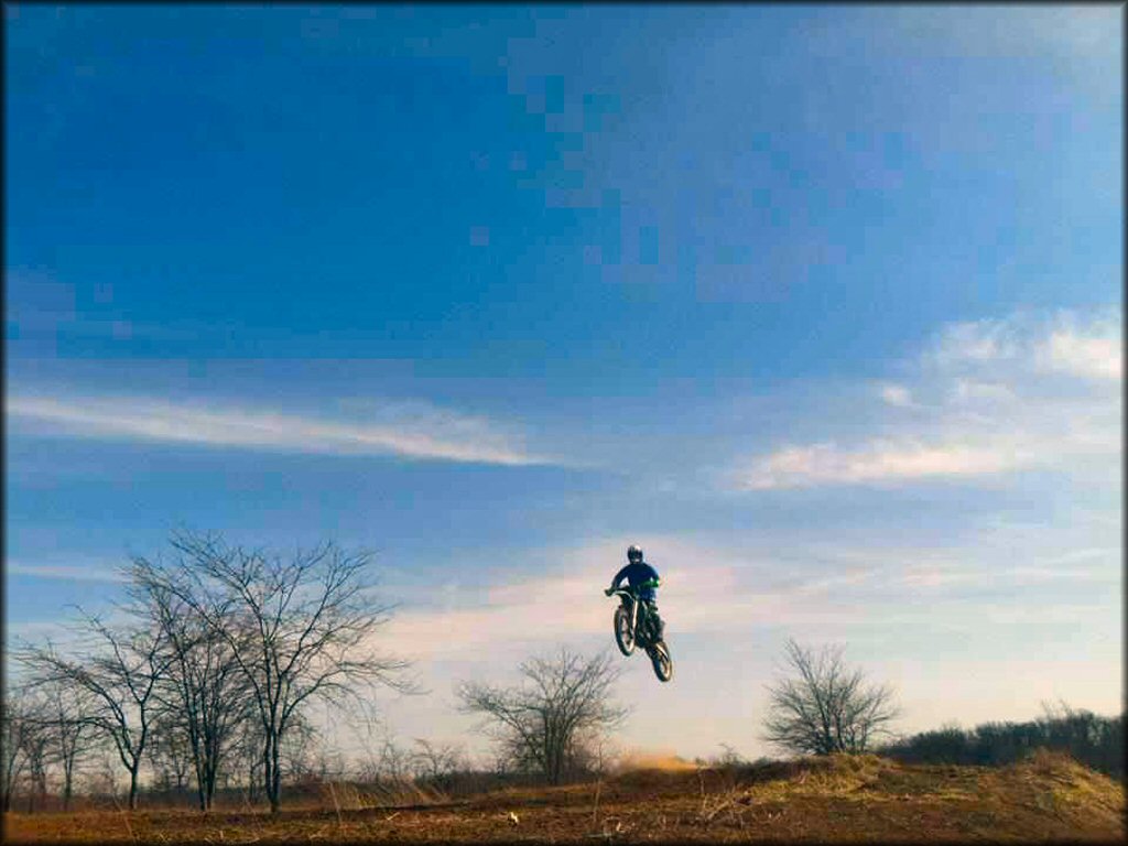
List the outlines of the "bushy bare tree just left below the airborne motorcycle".
{"type": "Polygon", "coordinates": [[[611,702],[619,676],[607,654],[584,658],[562,649],[554,658],[520,666],[525,684],[495,687],[461,682],[456,695],[464,713],[482,714],[506,757],[520,768],[535,768],[550,784],[584,755],[582,741],[618,725],[627,714],[611,702]]]}

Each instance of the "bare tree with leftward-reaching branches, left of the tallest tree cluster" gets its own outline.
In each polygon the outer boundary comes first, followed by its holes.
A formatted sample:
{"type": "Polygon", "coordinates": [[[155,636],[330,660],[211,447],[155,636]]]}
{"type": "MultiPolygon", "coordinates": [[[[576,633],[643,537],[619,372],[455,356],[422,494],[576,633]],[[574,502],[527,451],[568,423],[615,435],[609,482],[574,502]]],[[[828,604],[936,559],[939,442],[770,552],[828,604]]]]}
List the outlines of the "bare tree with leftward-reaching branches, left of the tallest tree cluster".
{"type": "Polygon", "coordinates": [[[130,774],[130,810],[136,810],[155,691],[167,667],[161,634],[141,626],[114,628],[90,615],[82,616],[78,628],[94,645],[76,658],[61,655],[47,643],[23,646],[16,659],[30,671],[30,686],[62,685],[88,697],[92,707],[81,723],[113,741],[130,774]]]}

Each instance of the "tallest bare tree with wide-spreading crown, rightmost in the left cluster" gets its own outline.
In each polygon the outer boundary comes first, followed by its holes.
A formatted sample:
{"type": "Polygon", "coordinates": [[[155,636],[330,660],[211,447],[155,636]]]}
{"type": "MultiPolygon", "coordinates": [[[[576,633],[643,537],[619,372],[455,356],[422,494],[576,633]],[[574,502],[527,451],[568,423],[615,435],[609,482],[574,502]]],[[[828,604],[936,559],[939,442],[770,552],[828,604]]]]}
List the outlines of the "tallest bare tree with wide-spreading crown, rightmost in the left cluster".
{"type": "Polygon", "coordinates": [[[271,811],[282,797],[282,742],[307,703],[337,704],[376,685],[412,689],[407,663],[377,653],[389,607],[373,602],[368,553],[334,544],[289,558],[180,534],[184,578],[170,587],[230,647],[262,725],[263,777],[271,811]]]}

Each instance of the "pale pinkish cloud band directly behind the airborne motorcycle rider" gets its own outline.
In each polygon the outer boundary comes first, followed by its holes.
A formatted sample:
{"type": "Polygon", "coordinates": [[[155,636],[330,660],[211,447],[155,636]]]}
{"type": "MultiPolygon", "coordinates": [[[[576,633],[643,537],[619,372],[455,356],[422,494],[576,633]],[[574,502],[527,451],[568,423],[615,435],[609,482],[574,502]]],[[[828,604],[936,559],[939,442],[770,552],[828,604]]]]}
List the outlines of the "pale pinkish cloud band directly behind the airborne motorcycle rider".
{"type": "MultiPolygon", "coordinates": [[[[1007,611],[1006,620],[1037,624],[1059,601],[1054,585],[1112,583],[1119,574],[1116,544],[1074,548],[1075,537],[1056,532],[985,528],[943,547],[818,546],[792,538],[787,561],[773,552],[772,539],[640,540],[654,550],[647,557],[662,574],[659,605],[677,641],[695,634],[743,638],[773,627],[812,636],[874,625],[895,629],[918,622],[918,611],[893,609],[924,597],[934,619],[967,628],[978,625],[969,609],[1001,608],[985,590],[1005,590],[1007,608],[1021,597],[1023,614],[1007,611]],[[1038,593],[1039,585],[1050,592],[1038,593]]],[[[497,573],[487,585],[447,593],[441,605],[402,608],[381,631],[381,642],[402,645],[414,659],[455,663],[496,661],[502,651],[528,653],[561,640],[609,643],[614,602],[601,590],[627,540],[532,550],[522,557],[549,562],[548,570],[508,580],[497,573]]]]}

